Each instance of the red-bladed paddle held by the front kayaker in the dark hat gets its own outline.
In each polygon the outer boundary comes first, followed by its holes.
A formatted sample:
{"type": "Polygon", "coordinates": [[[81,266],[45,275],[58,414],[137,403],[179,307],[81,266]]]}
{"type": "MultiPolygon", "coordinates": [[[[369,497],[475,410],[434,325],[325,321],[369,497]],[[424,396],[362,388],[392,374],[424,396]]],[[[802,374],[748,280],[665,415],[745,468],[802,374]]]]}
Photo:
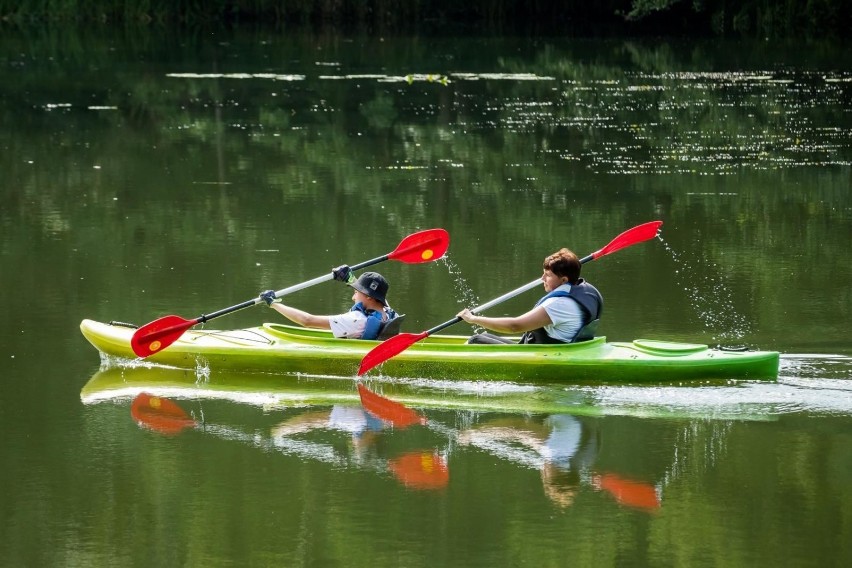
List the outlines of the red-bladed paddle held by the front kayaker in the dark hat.
{"type": "MultiPolygon", "coordinates": [[[[427,229],[425,231],[419,231],[408,235],[400,241],[392,252],[372,260],[356,264],[350,268],[353,271],[360,270],[386,260],[398,260],[406,264],[431,262],[444,256],[444,253],[447,252],[447,248],[449,246],[450,236],[447,231],[444,229],[427,229]]],[[[288,288],[278,290],[275,292],[275,295],[276,297],[281,298],[287,294],[292,294],[293,292],[309,288],[315,284],[327,282],[333,278],[334,275],[329,272],[328,274],[318,276],[312,280],[308,280],[307,282],[294,284],[288,288]]],[[[133,352],[136,353],[137,356],[148,357],[158,351],[162,351],[177,341],[185,331],[199,323],[204,323],[212,320],[213,318],[224,316],[225,314],[230,314],[237,310],[255,306],[263,302],[264,300],[258,296],[257,298],[213,312],[212,314],[202,314],[195,319],[184,319],[180,316],[174,315],[164,316],[137,329],[130,340],[130,346],[133,348],[133,352]]]]}

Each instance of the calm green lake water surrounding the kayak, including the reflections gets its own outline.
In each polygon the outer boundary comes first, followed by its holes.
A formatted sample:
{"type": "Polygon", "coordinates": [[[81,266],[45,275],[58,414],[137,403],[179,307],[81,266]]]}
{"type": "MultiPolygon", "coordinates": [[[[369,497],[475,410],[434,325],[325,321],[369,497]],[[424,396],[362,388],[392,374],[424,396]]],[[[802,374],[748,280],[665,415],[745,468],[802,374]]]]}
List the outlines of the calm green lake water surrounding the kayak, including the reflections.
{"type": "Polygon", "coordinates": [[[0,46],[0,564],[852,562],[848,49],[98,30],[0,46]],[[447,259],[379,268],[417,332],[653,219],[660,240],[584,268],[602,332],[777,350],[777,383],[371,378],[426,419],[390,428],[352,377],[102,364],[78,331],[195,317],[444,227],[447,259]],[[179,428],[140,427],[141,391],[179,428]]]}

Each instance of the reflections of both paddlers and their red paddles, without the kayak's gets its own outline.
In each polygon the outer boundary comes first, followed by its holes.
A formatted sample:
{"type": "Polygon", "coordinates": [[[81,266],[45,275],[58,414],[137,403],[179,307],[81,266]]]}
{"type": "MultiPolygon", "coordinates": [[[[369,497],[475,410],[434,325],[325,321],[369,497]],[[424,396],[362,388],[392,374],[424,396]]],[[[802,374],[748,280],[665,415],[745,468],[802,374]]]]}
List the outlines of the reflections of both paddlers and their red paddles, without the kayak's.
{"type": "MultiPolygon", "coordinates": [[[[130,416],[141,428],[167,437],[196,431],[303,463],[390,475],[411,490],[448,487],[451,461],[464,463],[471,452],[485,452],[498,458],[491,475],[501,475],[504,468],[538,471],[544,495],[559,508],[571,506],[584,487],[605,492],[627,507],[653,510],[661,505],[653,484],[599,471],[600,432],[578,417],[462,412],[455,420],[461,426],[445,426],[362,384],[358,392],[361,405],[290,409],[283,418],[276,413],[275,423],[264,427],[227,425],[224,417],[234,414],[233,409],[219,408],[216,414],[223,418],[217,421],[203,411],[203,400],[173,400],[146,391],[132,398],[130,416]],[[184,409],[191,406],[197,410],[184,409]],[[427,438],[424,443],[423,436],[414,436],[391,443],[390,438],[408,428],[429,429],[439,437],[437,442],[427,438]]],[[[122,394],[114,402],[123,400],[122,394]]]]}

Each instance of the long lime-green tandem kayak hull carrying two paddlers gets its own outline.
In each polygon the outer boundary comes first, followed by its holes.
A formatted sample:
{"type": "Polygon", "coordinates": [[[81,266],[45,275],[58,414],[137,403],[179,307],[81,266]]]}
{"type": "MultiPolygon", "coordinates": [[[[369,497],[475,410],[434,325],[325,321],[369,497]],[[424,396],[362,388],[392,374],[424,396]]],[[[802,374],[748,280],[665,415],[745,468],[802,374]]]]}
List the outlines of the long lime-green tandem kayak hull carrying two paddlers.
{"type": "MultiPolygon", "coordinates": [[[[134,328],[83,320],[83,335],[106,355],[136,359],[134,328]]],[[[775,380],[775,351],[727,351],[651,339],[573,344],[468,345],[467,336],[433,335],[377,368],[388,377],[548,382],[648,383],[694,379],[775,380]]],[[[354,376],[378,341],[336,339],[324,330],[267,323],[236,330],[190,330],[146,359],[209,368],[354,376]]]]}

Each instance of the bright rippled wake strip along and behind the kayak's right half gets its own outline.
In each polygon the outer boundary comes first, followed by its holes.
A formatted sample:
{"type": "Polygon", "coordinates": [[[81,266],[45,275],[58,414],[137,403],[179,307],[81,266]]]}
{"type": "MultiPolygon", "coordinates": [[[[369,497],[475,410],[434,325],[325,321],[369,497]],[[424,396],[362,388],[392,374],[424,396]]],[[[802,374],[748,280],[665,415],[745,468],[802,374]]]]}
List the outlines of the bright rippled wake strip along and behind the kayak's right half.
{"type": "MultiPolygon", "coordinates": [[[[845,373],[852,373],[852,362],[845,362],[845,373]]],[[[594,386],[383,377],[367,386],[394,401],[424,409],[741,421],[775,420],[791,413],[852,415],[852,381],[825,377],[594,386]]]]}

